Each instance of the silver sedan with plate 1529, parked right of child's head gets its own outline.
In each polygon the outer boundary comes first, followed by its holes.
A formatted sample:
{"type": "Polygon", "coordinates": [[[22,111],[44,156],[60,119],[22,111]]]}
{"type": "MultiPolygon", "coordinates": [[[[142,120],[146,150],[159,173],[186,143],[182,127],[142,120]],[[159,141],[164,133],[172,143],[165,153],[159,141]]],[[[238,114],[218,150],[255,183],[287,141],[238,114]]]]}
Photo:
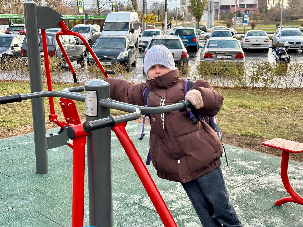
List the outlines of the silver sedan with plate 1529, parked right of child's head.
{"type": "Polygon", "coordinates": [[[245,62],[244,52],[238,40],[227,37],[209,38],[201,49],[200,59],[201,61],[245,62]]]}

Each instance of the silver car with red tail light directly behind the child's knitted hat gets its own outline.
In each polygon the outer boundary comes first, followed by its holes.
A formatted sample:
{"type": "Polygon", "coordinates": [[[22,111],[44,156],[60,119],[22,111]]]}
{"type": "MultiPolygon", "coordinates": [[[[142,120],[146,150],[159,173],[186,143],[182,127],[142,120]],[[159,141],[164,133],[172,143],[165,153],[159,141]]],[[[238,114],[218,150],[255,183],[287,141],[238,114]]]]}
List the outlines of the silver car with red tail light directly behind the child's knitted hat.
{"type": "MultiPolygon", "coordinates": [[[[163,44],[168,48],[168,50],[171,52],[171,54],[174,57],[175,65],[178,66],[180,64],[188,63],[188,54],[185,49],[187,47],[187,44],[181,41],[181,38],[178,36],[173,35],[157,35],[151,38],[151,40],[148,43],[147,48],[145,49],[145,52],[142,56],[142,62],[144,64],[144,57],[146,52],[154,45],[160,45],[163,44]]],[[[142,67],[142,71],[144,73],[144,67],[142,67]]]]}

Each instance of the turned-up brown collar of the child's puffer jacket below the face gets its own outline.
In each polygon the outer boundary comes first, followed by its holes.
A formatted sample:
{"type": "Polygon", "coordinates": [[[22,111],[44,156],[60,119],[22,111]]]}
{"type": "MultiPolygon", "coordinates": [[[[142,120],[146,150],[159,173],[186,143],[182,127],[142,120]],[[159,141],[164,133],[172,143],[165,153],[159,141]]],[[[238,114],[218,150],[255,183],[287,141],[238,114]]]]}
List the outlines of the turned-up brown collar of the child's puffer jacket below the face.
{"type": "Polygon", "coordinates": [[[169,88],[172,87],[176,82],[180,80],[179,70],[174,70],[163,74],[155,79],[146,79],[146,85],[149,90],[156,90],[157,88],[169,88]]]}

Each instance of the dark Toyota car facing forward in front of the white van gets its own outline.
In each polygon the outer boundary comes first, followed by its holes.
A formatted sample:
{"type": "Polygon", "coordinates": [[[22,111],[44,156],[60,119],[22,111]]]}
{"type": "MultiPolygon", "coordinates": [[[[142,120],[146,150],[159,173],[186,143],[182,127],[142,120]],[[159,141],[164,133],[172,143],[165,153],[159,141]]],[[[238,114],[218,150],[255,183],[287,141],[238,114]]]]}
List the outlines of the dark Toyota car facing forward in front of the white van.
{"type": "MultiPolygon", "coordinates": [[[[126,35],[102,35],[92,46],[101,64],[124,64],[126,70],[137,64],[137,53],[134,42],[126,35]]],[[[96,63],[92,54],[88,54],[87,64],[96,63]]]]}

